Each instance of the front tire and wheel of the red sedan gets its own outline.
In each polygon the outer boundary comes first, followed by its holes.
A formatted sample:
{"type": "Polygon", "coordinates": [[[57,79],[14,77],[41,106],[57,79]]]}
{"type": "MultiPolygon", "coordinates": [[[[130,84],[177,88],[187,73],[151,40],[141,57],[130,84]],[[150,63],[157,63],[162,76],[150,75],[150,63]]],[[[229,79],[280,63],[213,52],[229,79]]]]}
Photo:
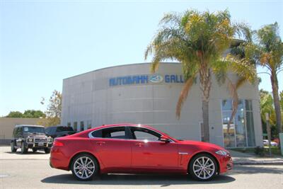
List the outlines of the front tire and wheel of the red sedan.
{"type": "Polygon", "coordinates": [[[188,173],[197,181],[210,181],[216,176],[217,164],[209,154],[197,154],[192,157],[188,173]]]}

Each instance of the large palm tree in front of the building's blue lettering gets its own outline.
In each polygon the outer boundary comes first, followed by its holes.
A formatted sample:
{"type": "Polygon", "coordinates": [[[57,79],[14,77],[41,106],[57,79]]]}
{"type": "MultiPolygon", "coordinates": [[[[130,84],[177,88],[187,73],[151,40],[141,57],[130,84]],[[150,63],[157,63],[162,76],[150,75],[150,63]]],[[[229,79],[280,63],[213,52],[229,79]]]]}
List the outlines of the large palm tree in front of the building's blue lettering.
{"type": "Polygon", "coordinates": [[[177,60],[182,64],[185,85],[180,93],[176,115],[180,112],[195,79],[200,79],[202,91],[202,122],[204,141],[209,142],[209,92],[212,86],[212,74],[219,84],[227,81],[233,98],[233,113],[236,113],[238,95],[236,88],[243,81],[233,84],[227,72],[235,71],[243,80],[255,81],[255,67],[248,64],[248,59],[223,54],[234,41],[236,33],[249,36],[246,25],[233,25],[229,11],[209,13],[205,11],[186,11],[168,13],[160,22],[161,29],[149,44],[145,59],[153,55],[151,71],[158,69],[159,62],[167,59],[177,60]]]}

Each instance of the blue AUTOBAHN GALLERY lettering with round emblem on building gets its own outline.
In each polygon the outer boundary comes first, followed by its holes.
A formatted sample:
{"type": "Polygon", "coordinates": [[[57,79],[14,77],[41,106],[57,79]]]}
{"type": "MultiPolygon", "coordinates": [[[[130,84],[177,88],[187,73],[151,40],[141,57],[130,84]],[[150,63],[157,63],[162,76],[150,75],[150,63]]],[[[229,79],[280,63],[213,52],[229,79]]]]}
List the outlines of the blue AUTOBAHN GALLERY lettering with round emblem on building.
{"type": "Polygon", "coordinates": [[[164,76],[160,74],[144,74],[135,76],[118,76],[109,79],[109,86],[122,86],[122,85],[134,85],[134,84],[182,84],[184,79],[182,75],[166,74],[164,76]]]}

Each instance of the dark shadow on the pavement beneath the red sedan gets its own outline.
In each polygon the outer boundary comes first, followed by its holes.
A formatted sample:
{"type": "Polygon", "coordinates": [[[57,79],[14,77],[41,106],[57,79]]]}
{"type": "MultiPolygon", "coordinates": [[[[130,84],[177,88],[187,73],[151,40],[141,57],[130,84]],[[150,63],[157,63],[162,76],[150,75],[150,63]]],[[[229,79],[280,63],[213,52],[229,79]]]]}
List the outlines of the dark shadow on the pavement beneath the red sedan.
{"type": "Polygon", "coordinates": [[[202,182],[192,180],[189,176],[161,176],[161,175],[129,175],[129,174],[108,174],[97,176],[93,181],[76,181],[71,174],[50,176],[42,179],[42,183],[71,183],[86,185],[185,185],[185,184],[212,184],[230,183],[235,181],[231,176],[216,176],[212,181],[202,182]]]}

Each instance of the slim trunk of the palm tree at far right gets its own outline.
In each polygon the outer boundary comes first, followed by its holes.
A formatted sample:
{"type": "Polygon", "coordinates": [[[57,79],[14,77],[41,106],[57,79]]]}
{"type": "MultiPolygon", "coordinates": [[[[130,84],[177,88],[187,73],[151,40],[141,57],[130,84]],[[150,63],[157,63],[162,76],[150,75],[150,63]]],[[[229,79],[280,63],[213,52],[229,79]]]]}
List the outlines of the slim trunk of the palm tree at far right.
{"type": "Polygon", "coordinates": [[[277,132],[279,133],[282,132],[282,118],[281,118],[281,110],[280,110],[280,102],[279,102],[279,94],[278,94],[278,80],[275,71],[272,71],[270,79],[272,84],[273,101],[275,104],[277,132]]]}

